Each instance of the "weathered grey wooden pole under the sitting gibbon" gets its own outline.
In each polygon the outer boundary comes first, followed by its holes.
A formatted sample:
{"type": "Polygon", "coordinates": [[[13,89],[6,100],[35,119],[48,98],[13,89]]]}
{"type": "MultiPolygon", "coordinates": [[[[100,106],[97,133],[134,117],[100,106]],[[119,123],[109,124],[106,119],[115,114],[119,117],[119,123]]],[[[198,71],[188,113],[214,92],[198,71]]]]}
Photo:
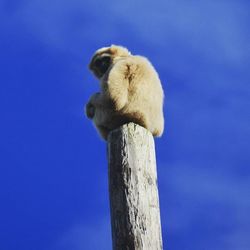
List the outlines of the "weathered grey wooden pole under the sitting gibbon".
{"type": "Polygon", "coordinates": [[[134,123],[108,137],[114,250],[162,250],[153,136],[134,123]]]}

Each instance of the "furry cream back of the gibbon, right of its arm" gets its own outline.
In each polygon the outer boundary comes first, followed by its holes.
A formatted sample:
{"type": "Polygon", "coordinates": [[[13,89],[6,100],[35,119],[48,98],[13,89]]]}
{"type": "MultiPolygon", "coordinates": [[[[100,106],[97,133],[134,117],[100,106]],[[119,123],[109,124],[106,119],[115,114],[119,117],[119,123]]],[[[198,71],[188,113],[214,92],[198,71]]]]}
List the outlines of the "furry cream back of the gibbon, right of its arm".
{"type": "Polygon", "coordinates": [[[144,57],[131,56],[128,101],[121,110],[128,120],[147,128],[154,136],[164,130],[161,81],[152,64],[144,57]]]}

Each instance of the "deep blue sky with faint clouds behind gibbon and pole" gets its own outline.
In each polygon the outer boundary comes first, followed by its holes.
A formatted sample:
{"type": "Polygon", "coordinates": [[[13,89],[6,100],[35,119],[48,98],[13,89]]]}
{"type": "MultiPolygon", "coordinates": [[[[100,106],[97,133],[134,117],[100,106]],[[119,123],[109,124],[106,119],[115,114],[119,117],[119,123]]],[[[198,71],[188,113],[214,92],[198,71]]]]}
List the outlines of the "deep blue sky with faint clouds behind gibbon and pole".
{"type": "Polygon", "coordinates": [[[93,52],[147,56],[164,250],[250,249],[249,1],[0,2],[0,248],[111,249],[106,145],[83,106],[93,52]]]}

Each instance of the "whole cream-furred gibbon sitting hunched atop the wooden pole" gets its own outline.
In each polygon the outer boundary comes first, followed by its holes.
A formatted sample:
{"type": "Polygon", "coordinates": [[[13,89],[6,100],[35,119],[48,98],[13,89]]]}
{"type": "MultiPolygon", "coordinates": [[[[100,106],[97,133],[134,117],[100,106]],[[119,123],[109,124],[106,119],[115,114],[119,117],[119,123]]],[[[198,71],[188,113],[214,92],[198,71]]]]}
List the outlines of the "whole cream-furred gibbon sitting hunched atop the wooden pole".
{"type": "Polygon", "coordinates": [[[134,122],[153,136],[164,130],[164,92],[158,73],[146,57],[132,55],[122,46],[98,49],[89,69],[100,82],[85,113],[104,140],[110,131],[134,122]]]}

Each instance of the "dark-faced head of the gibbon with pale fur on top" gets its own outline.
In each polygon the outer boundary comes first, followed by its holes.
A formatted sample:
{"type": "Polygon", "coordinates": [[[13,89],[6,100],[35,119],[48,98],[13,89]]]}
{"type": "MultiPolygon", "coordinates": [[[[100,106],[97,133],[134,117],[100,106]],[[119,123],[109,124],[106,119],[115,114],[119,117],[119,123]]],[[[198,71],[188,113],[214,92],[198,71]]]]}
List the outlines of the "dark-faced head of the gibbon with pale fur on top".
{"type": "Polygon", "coordinates": [[[130,55],[126,48],[116,45],[98,49],[90,61],[89,69],[100,79],[116,60],[130,55]]]}

